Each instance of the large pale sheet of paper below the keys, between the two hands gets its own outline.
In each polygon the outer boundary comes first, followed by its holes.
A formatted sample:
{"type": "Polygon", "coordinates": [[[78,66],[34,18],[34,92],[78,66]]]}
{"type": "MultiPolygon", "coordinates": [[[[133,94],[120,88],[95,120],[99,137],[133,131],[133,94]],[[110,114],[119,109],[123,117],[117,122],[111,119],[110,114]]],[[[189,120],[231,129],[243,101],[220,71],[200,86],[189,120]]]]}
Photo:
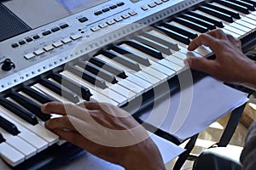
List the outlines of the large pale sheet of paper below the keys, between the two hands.
{"type": "Polygon", "coordinates": [[[247,102],[247,94],[205,77],[155,105],[140,118],[183,141],[247,102]]]}

